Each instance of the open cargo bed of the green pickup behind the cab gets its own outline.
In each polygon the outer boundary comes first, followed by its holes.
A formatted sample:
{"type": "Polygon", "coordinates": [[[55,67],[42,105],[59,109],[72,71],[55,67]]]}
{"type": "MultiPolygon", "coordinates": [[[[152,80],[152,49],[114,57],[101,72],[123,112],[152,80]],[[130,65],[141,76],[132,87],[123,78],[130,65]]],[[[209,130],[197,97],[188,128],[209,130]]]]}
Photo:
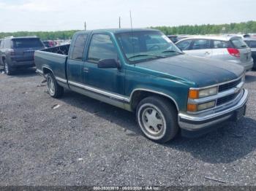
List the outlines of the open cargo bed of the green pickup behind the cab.
{"type": "Polygon", "coordinates": [[[67,79],[66,65],[70,44],[50,47],[34,52],[34,62],[39,71],[50,69],[55,77],[67,79]]]}

